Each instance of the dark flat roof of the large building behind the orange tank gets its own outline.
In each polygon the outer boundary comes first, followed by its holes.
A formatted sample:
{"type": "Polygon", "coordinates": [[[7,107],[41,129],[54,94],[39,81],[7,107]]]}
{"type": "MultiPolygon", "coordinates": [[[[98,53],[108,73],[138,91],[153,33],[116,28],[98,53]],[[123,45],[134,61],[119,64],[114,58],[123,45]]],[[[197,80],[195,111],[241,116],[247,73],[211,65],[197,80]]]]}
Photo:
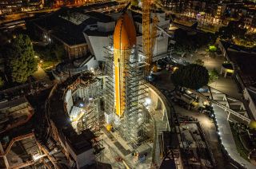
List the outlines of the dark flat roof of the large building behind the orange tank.
{"type": "MultiPolygon", "coordinates": [[[[98,5],[98,7],[100,6],[102,8],[115,5],[115,3],[104,4],[107,5],[98,5]]],[[[106,14],[90,11],[94,9],[93,6],[88,6],[87,8],[62,8],[54,12],[54,14],[35,19],[33,22],[67,45],[86,43],[86,39],[82,34],[86,26],[94,25],[97,22],[113,21],[112,18],[106,14]],[[87,10],[89,12],[87,12],[87,10]]]]}

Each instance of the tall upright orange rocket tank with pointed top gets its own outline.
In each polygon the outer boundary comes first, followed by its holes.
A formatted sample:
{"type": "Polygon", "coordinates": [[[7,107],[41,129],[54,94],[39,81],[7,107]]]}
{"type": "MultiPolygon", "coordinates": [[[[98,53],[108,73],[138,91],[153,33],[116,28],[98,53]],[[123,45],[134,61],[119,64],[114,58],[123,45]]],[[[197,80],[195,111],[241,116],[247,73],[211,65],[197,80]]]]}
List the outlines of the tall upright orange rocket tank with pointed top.
{"type": "Polygon", "coordinates": [[[127,13],[122,14],[114,29],[114,92],[115,108],[119,117],[125,110],[125,79],[127,61],[131,49],[136,45],[134,22],[127,13]]]}

